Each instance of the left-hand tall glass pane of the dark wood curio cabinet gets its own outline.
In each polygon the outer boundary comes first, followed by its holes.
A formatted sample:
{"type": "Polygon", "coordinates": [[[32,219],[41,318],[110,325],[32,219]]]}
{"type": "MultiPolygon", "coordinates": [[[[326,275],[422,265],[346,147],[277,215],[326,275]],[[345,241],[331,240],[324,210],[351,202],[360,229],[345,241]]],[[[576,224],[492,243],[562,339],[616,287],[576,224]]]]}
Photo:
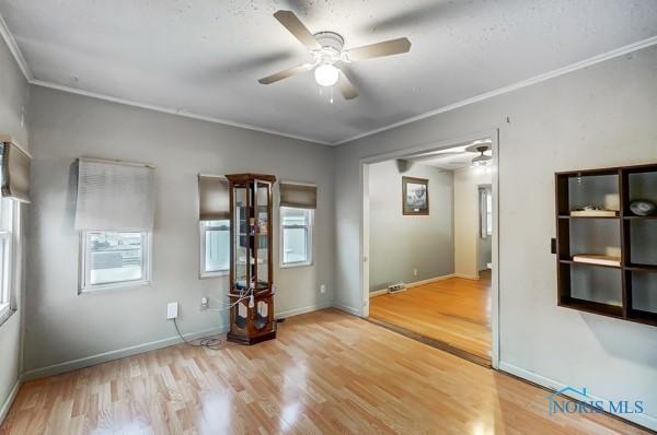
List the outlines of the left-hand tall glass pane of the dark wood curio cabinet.
{"type": "Polygon", "coordinates": [[[233,188],[233,262],[235,289],[249,289],[251,249],[249,240],[249,188],[237,186],[233,188]]]}

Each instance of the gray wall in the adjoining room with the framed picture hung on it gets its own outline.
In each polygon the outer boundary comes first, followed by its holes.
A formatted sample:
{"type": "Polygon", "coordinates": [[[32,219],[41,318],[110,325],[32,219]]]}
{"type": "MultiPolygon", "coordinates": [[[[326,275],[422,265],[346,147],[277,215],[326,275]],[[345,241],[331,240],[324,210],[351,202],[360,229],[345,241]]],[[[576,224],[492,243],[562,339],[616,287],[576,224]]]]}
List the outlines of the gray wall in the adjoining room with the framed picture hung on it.
{"type": "Polygon", "coordinates": [[[388,161],[370,165],[369,181],[370,291],[453,273],[453,173],[418,164],[400,173],[388,161]],[[429,215],[402,214],[402,176],[429,180],[429,215]]]}

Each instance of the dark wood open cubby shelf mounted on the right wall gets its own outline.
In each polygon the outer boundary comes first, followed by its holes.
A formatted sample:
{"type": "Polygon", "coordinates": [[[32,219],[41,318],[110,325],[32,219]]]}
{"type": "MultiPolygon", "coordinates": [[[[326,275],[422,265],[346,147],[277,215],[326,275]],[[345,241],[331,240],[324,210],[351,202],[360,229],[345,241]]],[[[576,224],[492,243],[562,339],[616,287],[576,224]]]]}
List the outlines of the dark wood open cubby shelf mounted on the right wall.
{"type": "Polygon", "coordinates": [[[555,174],[558,305],[657,326],[657,164],[555,174]]]}

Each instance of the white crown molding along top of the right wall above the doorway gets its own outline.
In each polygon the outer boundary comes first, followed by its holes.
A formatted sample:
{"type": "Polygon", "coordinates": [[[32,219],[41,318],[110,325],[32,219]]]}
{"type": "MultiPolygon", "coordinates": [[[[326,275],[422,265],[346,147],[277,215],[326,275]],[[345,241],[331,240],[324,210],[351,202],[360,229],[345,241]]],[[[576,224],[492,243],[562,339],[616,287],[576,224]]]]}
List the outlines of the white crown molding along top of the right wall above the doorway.
{"type": "Polygon", "coordinates": [[[434,110],[426,111],[426,113],[420,114],[420,115],[416,115],[416,116],[411,117],[411,118],[406,118],[404,120],[401,120],[401,121],[397,121],[397,122],[394,122],[394,124],[390,124],[390,125],[384,126],[384,127],[380,127],[380,128],[374,129],[374,130],[369,130],[369,131],[366,131],[364,133],[359,133],[359,134],[353,136],[353,137],[347,138],[347,139],[343,139],[343,140],[336,141],[336,142],[332,142],[331,144],[332,145],[342,145],[343,143],[348,143],[348,142],[355,141],[357,139],[361,139],[361,138],[366,138],[368,136],[380,133],[380,132],[385,131],[385,130],[391,130],[393,128],[405,126],[405,125],[411,124],[411,122],[415,122],[415,121],[418,121],[418,120],[422,120],[422,119],[430,118],[431,116],[435,116],[435,115],[438,115],[438,114],[443,114],[446,111],[450,111],[450,110],[457,109],[459,107],[468,106],[470,104],[479,103],[479,102],[482,102],[484,99],[492,98],[494,96],[507,94],[509,92],[514,92],[514,91],[517,91],[517,90],[522,89],[522,87],[531,86],[532,84],[541,83],[541,82],[544,82],[546,80],[554,79],[556,77],[564,75],[564,74],[567,74],[569,72],[577,71],[577,70],[580,70],[583,68],[587,68],[587,67],[590,67],[592,64],[600,63],[600,62],[603,62],[606,60],[613,59],[613,58],[626,55],[626,54],[632,52],[632,51],[639,50],[642,48],[654,46],[656,44],[657,44],[657,36],[653,36],[653,37],[649,37],[647,39],[643,39],[643,40],[639,40],[637,43],[629,44],[626,46],[613,49],[611,51],[603,52],[602,55],[593,56],[591,58],[581,60],[579,62],[575,62],[575,63],[568,64],[566,67],[556,69],[554,71],[545,72],[543,74],[535,75],[535,77],[533,77],[531,79],[522,80],[522,81],[514,83],[511,85],[499,87],[499,89],[497,89],[495,91],[491,91],[491,92],[486,92],[486,93],[483,93],[483,94],[477,95],[477,96],[473,96],[472,98],[466,98],[466,99],[463,99],[463,101],[460,101],[460,102],[457,102],[457,103],[453,103],[453,104],[450,104],[450,105],[447,105],[447,106],[443,106],[443,107],[440,107],[440,108],[437,108],[437,109],[434,109],[434,110]]]}

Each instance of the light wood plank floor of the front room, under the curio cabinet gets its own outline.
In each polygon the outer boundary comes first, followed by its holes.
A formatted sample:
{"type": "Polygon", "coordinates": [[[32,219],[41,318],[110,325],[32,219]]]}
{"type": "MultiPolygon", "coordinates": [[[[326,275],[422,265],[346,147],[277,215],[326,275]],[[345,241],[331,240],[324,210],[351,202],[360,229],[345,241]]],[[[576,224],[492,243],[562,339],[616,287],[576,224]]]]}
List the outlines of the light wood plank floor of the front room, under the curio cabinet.
{"type": "Polygon", "coordinates": [[[327,309],[279,338],[184,344],[25,384],[11,434],[642,434],[549,416],[546,391],[327,309]]]}

